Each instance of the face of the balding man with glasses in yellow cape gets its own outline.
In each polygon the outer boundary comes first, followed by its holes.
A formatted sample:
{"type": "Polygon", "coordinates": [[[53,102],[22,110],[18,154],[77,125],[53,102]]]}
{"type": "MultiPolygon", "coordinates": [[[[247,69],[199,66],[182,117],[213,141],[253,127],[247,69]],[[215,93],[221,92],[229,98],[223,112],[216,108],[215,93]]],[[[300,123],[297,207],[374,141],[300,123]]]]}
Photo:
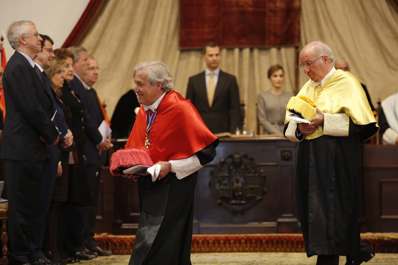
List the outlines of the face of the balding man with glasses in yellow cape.
{"type": "MultiPolygon", "coordinates": [[[[319,56],[316,56],[312,50],[303,50],[300,53],[301,64],[314,61],[319,56]]],[[[304,66],[304,74],[308,75],[312,81],[320,82],[328,74],[328,56],[324,55],[322,58],[312,62],[311,66],[304,66]]]]}

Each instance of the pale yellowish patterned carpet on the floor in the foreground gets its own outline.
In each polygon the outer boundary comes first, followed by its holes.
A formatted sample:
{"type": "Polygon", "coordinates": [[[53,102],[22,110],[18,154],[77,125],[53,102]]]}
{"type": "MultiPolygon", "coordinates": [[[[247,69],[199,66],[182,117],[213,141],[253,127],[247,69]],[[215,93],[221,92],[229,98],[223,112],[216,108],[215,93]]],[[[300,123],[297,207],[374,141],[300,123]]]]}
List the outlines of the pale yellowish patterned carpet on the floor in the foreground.
{"type": "MultiPolygon", "coordinates": [[[[112,255],[98,257],[91,261],[81,261],[82,265],[127,265],[130,255],[112,255]]],[[[314,265],[316,257],[307,258],[304,253],[283,252],[250,252],[250,253],[192,253],[192,265],[314,265]]],[[[345,257],[340,257],[340,265],[345,264],[345,257]]],[[[363,265],[398,264],[398,254],[377,253],[368,263],[363,265]]]]}

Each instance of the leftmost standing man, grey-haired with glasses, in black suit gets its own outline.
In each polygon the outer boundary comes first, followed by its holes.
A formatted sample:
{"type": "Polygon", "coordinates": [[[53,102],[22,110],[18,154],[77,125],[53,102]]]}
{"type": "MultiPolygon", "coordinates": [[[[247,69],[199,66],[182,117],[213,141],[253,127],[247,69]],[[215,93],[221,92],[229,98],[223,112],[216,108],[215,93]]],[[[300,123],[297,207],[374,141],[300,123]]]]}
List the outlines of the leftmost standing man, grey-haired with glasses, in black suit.
{"type": "Polygon", "coordinates": [[[7,31],[16,50],[4,70],[7,119],[1,157],[8,189],[10,264],[46,264],[31,248],[33,214],[43,178],[46,144],[56,145],[59,132],[51,121],[53,103],[33,62],[43,40],[31,21],[16,21],[7,31]]]}

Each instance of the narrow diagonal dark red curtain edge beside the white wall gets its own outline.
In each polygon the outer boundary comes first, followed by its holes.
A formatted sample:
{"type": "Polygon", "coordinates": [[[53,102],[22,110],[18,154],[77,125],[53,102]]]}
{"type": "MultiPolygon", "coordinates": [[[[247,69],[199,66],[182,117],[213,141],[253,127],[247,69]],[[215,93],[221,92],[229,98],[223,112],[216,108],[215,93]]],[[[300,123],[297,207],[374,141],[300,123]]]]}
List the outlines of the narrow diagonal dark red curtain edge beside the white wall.
{"type": "Polygon", "coordinates": [[[94,24],[107,2],[108,0],[90,0],[79,21],[76,23],[76,26],[62,45],[62,48],[68,48],[79,44],[94,24]]]}

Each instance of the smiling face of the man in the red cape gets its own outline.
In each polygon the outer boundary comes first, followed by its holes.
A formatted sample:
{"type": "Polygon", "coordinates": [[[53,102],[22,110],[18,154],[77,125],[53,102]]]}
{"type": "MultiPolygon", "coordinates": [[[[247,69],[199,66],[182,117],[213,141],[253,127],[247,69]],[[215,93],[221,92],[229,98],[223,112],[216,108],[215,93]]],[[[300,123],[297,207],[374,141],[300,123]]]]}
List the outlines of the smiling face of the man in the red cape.
{"type": "Polygon", "coordinates": [[[141,105],[152,105],[163,94],[162,84],[156,82],[151,85],[148,81],[148,69],[135,72],[134,92],[138,95],[138,103],[141,105]]]}

